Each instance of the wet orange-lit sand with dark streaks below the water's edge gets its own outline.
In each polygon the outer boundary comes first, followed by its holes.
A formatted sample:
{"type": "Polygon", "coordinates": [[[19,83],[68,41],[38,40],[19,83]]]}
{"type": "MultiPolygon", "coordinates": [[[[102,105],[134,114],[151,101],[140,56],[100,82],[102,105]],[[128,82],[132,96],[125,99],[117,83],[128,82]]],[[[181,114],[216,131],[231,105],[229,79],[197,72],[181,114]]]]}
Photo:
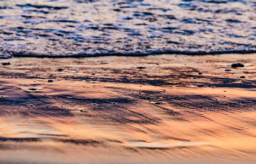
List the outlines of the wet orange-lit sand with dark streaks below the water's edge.
{"type": "Polygon", "coordinates": [[[255,54],[1,63],[0,163],[256,160],[255,54]]]}

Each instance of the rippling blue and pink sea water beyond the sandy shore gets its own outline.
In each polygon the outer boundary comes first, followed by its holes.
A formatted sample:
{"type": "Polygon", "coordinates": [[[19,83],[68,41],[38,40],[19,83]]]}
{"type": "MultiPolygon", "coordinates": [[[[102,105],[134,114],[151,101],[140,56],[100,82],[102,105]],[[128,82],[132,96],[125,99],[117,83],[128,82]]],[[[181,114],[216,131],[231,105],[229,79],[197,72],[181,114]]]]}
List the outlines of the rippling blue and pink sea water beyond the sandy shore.
{"type": "Polygon", "coordinates": [[[255,1],[0,1],[0,57],[255,52],[255,1]]]}

